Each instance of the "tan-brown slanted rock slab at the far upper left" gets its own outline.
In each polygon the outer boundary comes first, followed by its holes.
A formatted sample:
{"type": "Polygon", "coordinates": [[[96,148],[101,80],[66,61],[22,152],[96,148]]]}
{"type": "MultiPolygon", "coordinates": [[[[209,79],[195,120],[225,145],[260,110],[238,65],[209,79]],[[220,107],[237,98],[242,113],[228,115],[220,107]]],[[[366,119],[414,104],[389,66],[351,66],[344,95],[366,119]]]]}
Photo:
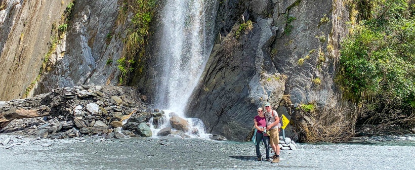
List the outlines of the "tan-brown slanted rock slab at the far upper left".
{"type": "Polygon", "coordinates": [[[0,1],[0,100],[21,98],[49,51],[69,0],[0,1]]]}

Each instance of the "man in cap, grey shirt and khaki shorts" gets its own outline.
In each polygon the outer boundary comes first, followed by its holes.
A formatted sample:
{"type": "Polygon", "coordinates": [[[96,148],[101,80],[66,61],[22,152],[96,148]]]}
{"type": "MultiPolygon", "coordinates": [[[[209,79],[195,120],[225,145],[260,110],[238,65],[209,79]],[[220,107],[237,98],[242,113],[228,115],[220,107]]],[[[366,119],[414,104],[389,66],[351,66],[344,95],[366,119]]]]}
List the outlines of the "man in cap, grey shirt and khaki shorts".
{"type": "Polygon", "coordinates": [[[278,113],[275,110],[271,109],[271,104],[268,102],[264,104],[265,106],[265,119],[267,120],[267,131],[270,131],[270,143],[271,148],[274,150],[275,154],[272,156],[272,162],[279,162],[279,134],[278,134],[278,123],[279,117],[278,113]]]}

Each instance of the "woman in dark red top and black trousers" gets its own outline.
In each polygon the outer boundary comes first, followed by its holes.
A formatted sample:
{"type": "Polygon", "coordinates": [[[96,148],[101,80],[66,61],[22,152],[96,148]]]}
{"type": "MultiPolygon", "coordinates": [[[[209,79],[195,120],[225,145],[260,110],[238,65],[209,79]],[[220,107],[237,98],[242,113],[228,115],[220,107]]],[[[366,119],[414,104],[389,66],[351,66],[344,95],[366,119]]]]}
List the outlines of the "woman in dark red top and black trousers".
{"type": "Polygon", "coordinates": [[[255,128],[258,130],[255,136],[257,144],[255,145],[255,149],[257,150],[257,157],[258,161],[262,159],[261,152],[259,150],[261,141],[264,142],[265,145],[265,152],[267,156],[265,157],[267,161],[269,160],[269,136],[266,133],[263,133],[267,127],[265,116],[263,114],[262,108],[258,108],[258,115],[254,118],[255,128]]]}

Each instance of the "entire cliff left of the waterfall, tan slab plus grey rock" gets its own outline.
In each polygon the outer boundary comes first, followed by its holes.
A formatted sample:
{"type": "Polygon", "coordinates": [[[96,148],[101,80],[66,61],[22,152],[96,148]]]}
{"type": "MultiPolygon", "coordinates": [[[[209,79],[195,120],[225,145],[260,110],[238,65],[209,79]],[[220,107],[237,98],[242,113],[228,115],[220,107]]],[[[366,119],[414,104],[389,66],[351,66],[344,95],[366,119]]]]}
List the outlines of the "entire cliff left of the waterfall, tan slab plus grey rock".
{"type": "Polygon", "coordinates": [[[2,1],[0,88],[5,90],[0,99],[79,84],[117,84],[125,30],[116,24],[117,3],[2,1]],[[69,3],[75,5],[65,16],[69,3]]]}

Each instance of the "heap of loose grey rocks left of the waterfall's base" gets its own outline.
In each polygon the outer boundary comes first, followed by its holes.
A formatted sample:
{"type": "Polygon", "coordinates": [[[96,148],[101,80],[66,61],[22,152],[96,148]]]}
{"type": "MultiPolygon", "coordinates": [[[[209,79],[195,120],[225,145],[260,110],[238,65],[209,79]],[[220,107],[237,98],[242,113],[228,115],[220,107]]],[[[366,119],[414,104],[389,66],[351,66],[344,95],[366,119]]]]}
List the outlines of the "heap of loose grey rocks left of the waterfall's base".
{"type": "Polygon", "coordinates": [[[51,139],[150,137],[147,122],[153,118],[158,124],[164,113],[147,109],[142,101],[145,98],[131,87],[78,86],[34,98],[1,101],[0,114],[20,109],[47,116],[14,119],[0,133],[51,139]]]}

